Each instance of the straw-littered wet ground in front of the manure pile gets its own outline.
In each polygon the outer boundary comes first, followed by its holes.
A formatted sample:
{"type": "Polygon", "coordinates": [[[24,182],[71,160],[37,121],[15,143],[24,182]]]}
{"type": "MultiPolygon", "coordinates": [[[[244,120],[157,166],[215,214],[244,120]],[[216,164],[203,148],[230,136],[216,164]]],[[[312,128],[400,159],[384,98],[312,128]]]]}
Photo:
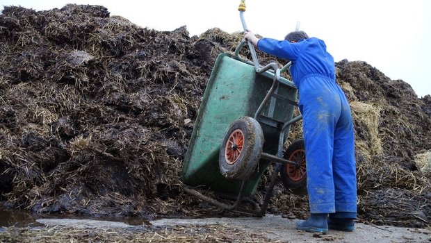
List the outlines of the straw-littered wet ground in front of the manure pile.
{"type": "MultiPolygon", "coordinates": [[[[277,215],[262,218],[158,219],[144,225],[94,219],[38,219],[36,226],[10,227],[0,239],[22,242],[429,242],[431,230],[357,224],[356,231],[327,234],[295,229],[277,215]]],[[[1,241],[1,240],[0,240],[1,241]]]]}

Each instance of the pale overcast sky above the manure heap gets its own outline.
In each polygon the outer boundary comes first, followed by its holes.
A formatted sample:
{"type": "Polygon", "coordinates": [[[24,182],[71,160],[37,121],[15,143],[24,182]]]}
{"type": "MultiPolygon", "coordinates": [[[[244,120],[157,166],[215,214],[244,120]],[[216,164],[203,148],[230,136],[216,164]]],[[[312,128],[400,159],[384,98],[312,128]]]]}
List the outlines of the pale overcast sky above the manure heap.
{"type": "MultiPolygon", "coordinates": [[[[134,24],[158,31],[187,26],[190,35],[218,27],[243,31],[240,0],[1,0],[3,6],[35,10],[67,3],[97,4],[134,24]]],[[[338,62],[362,60],[391,79],[402,79],[423,97],[431,94],[431,1],[428,0],[246,0],[248,28],[264,37],[282,39],[300,29],[325,40],[338,62]]]]}

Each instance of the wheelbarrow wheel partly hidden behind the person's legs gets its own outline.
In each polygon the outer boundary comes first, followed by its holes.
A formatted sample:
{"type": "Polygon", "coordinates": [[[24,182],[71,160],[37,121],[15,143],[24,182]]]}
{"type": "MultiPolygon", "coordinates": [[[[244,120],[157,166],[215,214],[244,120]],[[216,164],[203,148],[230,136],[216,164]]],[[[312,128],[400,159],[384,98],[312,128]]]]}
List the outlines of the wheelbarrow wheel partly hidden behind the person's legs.
{"type": "Polygon", "coordinates": [[[285,164],[283,166],[281,177],[284,187],[291,190],[293,194],[306,195],[307,171],[304,140],[296,140],[291,146],[288,146],[283,157],[298,163],[298,165],[285,164]]]}

